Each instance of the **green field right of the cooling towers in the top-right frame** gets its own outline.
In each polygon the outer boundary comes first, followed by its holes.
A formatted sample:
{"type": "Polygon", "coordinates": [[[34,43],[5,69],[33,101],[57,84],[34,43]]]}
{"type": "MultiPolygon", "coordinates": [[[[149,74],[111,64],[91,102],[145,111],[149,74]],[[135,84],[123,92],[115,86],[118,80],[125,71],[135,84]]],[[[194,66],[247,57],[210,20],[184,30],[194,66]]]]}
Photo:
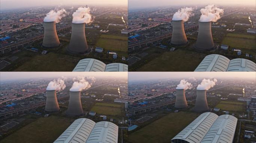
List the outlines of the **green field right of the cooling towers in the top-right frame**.
{"type": "Polygon", "coordinates": [[[222,41],[222,44],[231,46],[232,48],[242,49],[244,52],[255,54],[256,52],[256,36],[248,34],[228,33],[222,41]]]}

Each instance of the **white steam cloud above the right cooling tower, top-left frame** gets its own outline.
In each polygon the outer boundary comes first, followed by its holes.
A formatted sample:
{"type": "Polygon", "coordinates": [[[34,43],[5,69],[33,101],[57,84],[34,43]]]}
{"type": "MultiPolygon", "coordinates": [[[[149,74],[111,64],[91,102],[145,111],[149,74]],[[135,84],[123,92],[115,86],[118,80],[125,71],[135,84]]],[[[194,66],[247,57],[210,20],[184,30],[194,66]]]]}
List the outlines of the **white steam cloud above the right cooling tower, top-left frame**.
{"type": "Polygon", "coordinates": [[[90,8],[79,7],[76,12],[73,13],[72,23],[91,23],[92,15],[90,15],[90,8]]]}

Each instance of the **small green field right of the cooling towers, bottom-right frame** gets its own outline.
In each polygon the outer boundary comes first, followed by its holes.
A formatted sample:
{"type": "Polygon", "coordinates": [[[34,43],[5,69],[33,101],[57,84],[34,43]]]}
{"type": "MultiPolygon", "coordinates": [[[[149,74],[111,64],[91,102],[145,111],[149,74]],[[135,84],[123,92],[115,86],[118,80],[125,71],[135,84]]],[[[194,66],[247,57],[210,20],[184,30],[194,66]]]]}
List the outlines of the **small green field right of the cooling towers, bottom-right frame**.
{"type": "Polygon", "coordinates": [[[228,111],[244,111],[243,102],[220,101],[216,107],[228,111]]]}

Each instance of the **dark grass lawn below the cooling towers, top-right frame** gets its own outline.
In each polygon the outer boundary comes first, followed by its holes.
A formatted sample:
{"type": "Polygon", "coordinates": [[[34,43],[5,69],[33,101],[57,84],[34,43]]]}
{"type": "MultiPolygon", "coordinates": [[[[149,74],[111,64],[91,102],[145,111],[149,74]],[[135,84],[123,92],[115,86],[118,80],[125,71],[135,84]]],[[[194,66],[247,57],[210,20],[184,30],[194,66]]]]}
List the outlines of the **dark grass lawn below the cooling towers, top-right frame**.
{"type": "Polygon", "coordinates": [[[205,54],[177,49],[165,52],[137,71],[194,71],[205,54]]]}

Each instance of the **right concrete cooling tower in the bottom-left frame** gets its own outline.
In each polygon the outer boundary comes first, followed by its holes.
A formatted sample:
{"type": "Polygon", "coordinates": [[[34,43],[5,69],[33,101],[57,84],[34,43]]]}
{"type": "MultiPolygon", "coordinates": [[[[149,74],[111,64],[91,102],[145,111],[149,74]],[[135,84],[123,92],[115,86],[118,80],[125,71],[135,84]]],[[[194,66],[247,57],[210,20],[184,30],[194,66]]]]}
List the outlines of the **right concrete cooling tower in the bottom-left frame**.
{"type": "Polygon", "coordinates": [[[81,104],[80,91],[70,91],[69,92],[69,103],[68,109],[66,111],[67,115],[82,115],[83,108],[81,104]]]}

